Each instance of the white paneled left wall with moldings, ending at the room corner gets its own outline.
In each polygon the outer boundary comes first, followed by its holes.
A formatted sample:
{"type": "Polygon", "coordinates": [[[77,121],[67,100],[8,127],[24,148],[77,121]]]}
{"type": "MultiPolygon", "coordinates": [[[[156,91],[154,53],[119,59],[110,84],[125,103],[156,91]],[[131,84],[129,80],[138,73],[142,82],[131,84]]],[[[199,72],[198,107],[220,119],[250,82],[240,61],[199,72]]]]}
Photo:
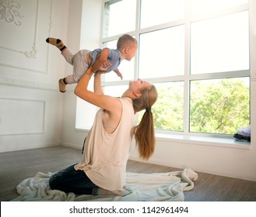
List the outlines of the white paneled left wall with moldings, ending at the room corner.
{"type": "Polygon", "coordinates": [[[0,152],[61,143],[65,60],[45,39],[67,40],[69,1],[15,2],[19,16],[0,19],[0,152]]]}

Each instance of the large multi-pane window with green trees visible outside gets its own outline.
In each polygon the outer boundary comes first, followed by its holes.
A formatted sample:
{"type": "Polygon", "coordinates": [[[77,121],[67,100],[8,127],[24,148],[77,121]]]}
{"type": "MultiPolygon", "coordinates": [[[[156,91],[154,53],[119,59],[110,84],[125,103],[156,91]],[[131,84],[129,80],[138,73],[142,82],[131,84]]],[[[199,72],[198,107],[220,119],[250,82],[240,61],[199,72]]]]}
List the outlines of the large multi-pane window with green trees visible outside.
{"type": "Polygon", "coordinates": [[[124,80],[104,76],[107,93],[138,77],[155,84],[160,133],[232,138],[250,124],[249,0],[113,0],[103,8],[103,47],[116,48],[124,33],[139,41],[119,67],[124,80]]]}

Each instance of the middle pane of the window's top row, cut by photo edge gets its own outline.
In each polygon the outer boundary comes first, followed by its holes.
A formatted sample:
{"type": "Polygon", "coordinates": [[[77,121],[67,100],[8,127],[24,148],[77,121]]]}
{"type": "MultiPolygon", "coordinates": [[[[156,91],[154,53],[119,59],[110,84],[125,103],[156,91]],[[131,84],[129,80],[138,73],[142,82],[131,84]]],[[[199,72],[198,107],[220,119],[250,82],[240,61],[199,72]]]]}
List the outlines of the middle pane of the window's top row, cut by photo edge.
{"type": "Polygon", "coordinates": [[[141,28],[184,19],[184,0],[142,0],[141,28]]]}

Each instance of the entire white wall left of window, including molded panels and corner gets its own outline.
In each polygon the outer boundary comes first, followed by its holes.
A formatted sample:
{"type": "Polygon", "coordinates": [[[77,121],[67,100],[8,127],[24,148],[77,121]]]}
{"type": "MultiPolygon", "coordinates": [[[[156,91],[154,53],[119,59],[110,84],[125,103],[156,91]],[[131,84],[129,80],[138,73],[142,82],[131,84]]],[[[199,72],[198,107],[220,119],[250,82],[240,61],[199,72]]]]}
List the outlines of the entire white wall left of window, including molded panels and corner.
{"type": "Polygon", "coordinates": [[[45,39],[61,38],[73,53],[100,47],[102,1],[16,2],[23,18],[0,20],[0,152],[61,143],[80,148],[86,133],[75,130],[75,84],[58,91],[72,66],[45,39]]]}

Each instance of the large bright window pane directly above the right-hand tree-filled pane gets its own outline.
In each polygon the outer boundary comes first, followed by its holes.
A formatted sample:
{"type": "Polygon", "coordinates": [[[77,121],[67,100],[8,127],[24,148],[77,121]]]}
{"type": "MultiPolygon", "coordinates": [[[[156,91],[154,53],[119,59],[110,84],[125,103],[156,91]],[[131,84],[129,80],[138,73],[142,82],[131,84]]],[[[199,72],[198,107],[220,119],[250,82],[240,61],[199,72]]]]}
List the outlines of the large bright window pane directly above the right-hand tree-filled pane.
{"type": "Polygon", "coordinates": [[[191,74],[247,69],[248,12],[191,23],[191,74]]]}

